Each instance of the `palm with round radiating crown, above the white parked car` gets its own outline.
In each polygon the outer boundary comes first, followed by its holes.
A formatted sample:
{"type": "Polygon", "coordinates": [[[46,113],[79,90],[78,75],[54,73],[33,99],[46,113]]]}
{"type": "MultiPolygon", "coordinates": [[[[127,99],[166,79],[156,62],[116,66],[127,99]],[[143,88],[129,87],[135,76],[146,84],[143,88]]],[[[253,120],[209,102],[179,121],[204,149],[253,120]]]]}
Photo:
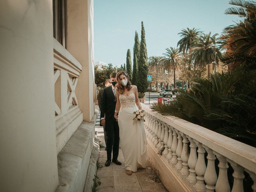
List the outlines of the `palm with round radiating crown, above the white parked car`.
{"type": "Polygon", "coordinates": [[[176,88],[176,70],[181,62],[182,54],[178,48],[166,48],[166,52],[163,54],[165,57],[163,58],[164,69],[170,72],[173,70],[174,76],[174,88],[176,88]]]}

